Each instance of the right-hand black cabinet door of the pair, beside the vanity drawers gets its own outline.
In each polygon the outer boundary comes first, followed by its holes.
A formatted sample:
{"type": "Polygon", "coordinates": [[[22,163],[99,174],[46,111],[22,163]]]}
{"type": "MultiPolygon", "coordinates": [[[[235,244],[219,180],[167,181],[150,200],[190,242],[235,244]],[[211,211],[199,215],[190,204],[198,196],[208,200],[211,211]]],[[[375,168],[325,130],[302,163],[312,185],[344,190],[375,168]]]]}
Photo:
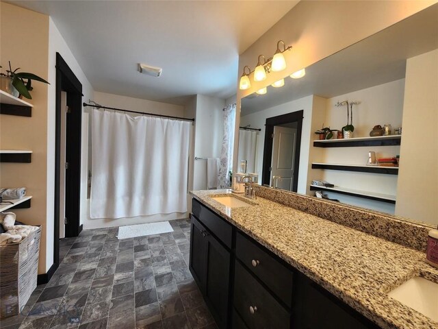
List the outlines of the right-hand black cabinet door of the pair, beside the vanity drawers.
{"type": "Polygon", "coordinates": [[[219,328],[228,328],[230,252],[207,233],[207,283],[205,300],[219,328]]]}

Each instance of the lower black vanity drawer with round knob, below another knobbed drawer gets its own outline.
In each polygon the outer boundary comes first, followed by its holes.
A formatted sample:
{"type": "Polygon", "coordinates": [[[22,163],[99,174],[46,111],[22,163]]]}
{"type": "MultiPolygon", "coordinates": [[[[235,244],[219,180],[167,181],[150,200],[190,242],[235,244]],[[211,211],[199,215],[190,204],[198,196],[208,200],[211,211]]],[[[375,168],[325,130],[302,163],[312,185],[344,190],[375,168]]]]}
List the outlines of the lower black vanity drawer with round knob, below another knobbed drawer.
{"type": "Polygon", "coordinates": [[[237,260],[234,307],[250,329],[290,328],[290,313],[237,260]]]}

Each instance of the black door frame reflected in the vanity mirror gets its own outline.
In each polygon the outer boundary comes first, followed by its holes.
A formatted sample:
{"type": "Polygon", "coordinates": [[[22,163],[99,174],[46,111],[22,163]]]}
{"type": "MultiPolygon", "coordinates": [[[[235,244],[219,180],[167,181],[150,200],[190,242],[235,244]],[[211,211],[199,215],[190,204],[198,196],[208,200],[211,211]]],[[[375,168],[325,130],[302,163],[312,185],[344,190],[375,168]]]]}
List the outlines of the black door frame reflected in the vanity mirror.
{"type": "Polygon", "coordinates": [[[277,117],[266,119],[265,145],[263,147],[263,170],[261,172],[261,183],[270,184],[271,163],[272,163],[272,141],[275,125],[284,125],[286,123],[296,122],[296,141],[295,141],[295,162],[294,162],[294,181],[292,182],[292,191],[298,190],[298,172],[300,169],[300,148],[301,148],[301,130],[304,110],[282,114],[277,117]]]}

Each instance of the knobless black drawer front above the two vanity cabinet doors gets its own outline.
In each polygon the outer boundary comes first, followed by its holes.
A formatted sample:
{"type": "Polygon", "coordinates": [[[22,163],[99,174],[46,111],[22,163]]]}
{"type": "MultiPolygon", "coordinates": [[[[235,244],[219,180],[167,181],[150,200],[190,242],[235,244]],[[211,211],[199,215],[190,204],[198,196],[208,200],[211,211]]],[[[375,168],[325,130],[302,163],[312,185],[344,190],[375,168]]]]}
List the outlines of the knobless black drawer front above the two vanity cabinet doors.
{"type": "Polygon", "coordinates": [[[192,199],[192,214],[209,229],[224,245],[231,249],[233,227],[198,200],[192,199]]]}

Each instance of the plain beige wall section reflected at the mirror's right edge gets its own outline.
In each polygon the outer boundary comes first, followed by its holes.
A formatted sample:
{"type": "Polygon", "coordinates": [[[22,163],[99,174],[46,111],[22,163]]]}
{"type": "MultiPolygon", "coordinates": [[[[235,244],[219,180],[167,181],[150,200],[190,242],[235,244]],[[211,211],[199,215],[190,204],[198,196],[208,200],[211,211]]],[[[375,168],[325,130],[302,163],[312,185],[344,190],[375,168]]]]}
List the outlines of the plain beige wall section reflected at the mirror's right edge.
{"type": "Polygon", "coordinates": [[[396,215],[438,224],[438,50],[407,60],[396,215]]]}

